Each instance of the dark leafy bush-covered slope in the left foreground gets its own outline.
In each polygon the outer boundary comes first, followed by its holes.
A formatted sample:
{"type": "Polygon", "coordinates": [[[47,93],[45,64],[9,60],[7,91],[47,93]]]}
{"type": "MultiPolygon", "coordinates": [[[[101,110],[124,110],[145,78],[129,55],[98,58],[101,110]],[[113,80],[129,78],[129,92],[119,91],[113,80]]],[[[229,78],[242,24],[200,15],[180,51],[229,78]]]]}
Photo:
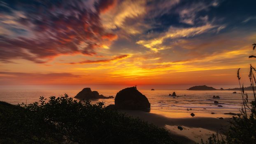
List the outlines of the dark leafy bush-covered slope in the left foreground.
{"type": "Polygon", "coordinates": [[[170,133],[138,118],[67,95],[30,105],[0,102],[0,144],[176,144],[170,133]]]}

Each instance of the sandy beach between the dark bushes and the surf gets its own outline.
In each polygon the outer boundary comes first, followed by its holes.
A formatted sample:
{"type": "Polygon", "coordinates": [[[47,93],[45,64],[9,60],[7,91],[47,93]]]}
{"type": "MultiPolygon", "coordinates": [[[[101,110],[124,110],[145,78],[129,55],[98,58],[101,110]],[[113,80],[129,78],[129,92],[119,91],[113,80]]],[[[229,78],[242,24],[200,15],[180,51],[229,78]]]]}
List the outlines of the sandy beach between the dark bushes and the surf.
{"type": "Polygon", "coordinates": [[[229,126],[228,121],[230,120],[230,118],[219,119],[197,116],[170,118],[161,114],[152,114],[144,111],[121,110],[121,112],[170,130],[174,139],[181,144],[195,144],[195,142],[200,142],[201,138],[206,140],[212,133],[227,129],[229,126]],[[178,125],[181,125],[184,130],[178,130],[178,125]]]}

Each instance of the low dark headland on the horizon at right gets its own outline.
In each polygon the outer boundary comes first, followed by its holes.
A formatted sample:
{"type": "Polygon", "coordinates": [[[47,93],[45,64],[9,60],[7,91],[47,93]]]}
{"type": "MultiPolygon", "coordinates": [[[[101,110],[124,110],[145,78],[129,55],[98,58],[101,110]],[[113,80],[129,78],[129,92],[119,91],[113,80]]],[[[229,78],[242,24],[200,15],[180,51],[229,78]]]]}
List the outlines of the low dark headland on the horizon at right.
{"type": "MultiPolygon", "coordinates": [[[[256,86],[254,86],[254,89],[256,90],[256,86]]],[[[220,90],[220,91],[240,91],[241,88],[228,88],[228,89],[216,89],[216,88],[213,88],[213,87],[210,87],[210,86],[193,86],[189,89],[187,89],[189,91],[217,91],[217,90],[220,90]]],[[[244,87],[244,91],[252,91],[252,86],[248,86],[248,87],[244,87]]]]}

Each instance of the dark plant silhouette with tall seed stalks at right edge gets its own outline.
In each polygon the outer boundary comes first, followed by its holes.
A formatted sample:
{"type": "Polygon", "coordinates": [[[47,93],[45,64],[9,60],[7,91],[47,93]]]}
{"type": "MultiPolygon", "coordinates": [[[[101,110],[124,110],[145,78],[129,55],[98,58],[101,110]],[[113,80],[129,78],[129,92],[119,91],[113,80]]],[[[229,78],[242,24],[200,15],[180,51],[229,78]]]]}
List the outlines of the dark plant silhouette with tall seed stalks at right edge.
{"type": "MultiPolygon", "coordinates": [[[[256,44],[252,44],[253,50],[256,44]]],[[[249,56],[249,58],[256,58],[256,56],[249,56]]],[[[256,69],[250,65],[249,80],[253,91],[254,100],[248,101],[248,94],[244,92],[244,86],[240,83],[240,68],[237,70],[237,78],[240,85],[241,96],[243,100],[243,106],[240,109],[240,114],[233,116],[230,121],[230,128],[224,133],[225,136],[212,135],[208,138],[207,142],[201,144],[256,144],[256,69]]]]}

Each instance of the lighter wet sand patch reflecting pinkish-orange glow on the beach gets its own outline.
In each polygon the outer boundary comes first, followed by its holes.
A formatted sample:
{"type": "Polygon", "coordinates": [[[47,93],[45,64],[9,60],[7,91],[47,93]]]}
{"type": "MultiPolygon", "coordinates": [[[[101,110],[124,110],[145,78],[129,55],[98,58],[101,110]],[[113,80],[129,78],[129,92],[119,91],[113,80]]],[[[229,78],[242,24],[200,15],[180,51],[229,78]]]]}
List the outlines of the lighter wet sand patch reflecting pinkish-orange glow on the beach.
{"type": "Polygon", "coordinates": [[[204,128],[189,128],[182,126],[183,130],[179,130],[177,127],[177,125],[165,125],[165,128],[170,130],[170,132],[188,137],[195,142],[201,142],[201,139],[205,142],[208,137],[212,136],[212,134],[216,134],[216,132],[204,128]]]}

